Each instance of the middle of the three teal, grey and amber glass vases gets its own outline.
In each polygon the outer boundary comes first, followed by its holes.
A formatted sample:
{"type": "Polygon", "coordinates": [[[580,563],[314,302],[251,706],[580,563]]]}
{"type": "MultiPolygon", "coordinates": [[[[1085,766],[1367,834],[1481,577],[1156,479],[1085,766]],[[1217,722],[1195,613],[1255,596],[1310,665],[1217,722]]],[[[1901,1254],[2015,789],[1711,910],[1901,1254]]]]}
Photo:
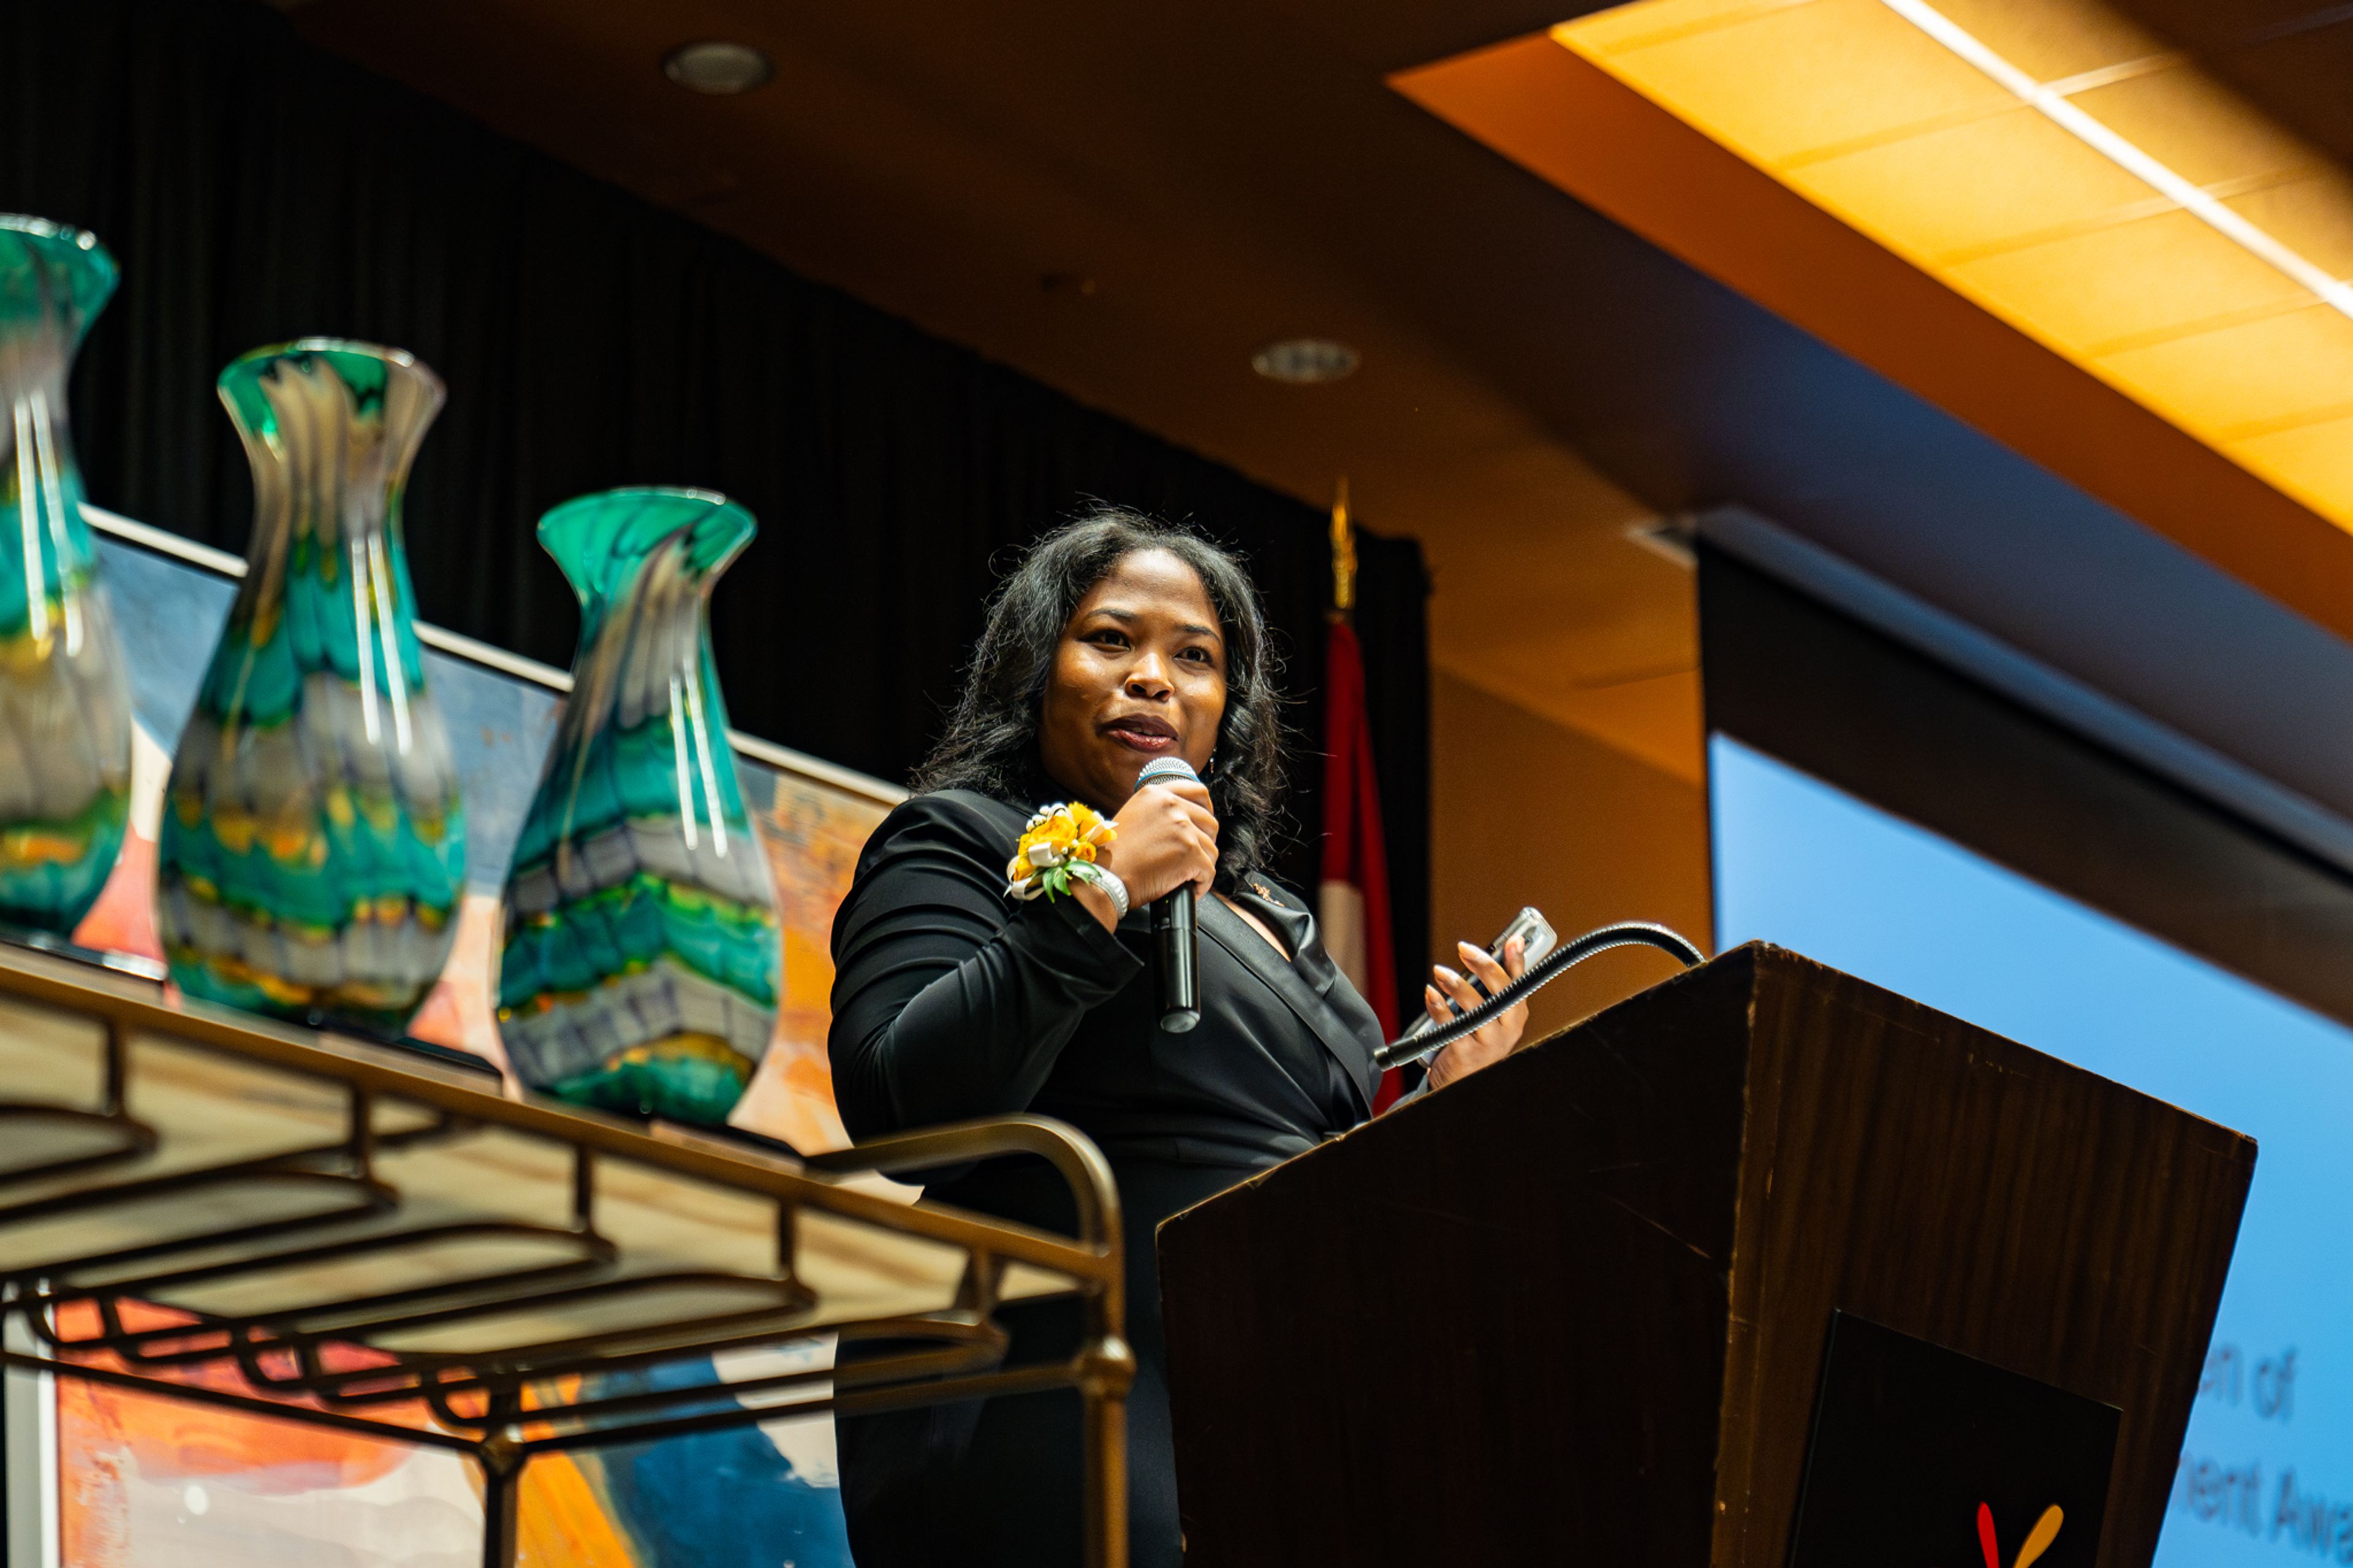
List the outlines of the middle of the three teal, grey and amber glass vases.
{"type": "Polygon", "coordinates": [[[155,925],[191,996],[398,1034],[456,937],[466,810],[400,546],[442,384],[301,339],[221,372],[254,537],[172,758],[155,925]]]}

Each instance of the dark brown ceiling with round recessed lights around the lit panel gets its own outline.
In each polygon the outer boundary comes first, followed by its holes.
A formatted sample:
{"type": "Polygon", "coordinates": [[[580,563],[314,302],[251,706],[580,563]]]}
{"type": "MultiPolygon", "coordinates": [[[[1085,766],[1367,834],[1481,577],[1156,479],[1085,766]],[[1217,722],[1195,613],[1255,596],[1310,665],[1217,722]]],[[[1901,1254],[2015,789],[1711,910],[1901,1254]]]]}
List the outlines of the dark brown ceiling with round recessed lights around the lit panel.
{"type": "MultiPolygon", "coordinates": [[[[2353,158],[2353,7],[2129,9],[2353,158]]],[[[1734,501],[2353,815],[2353,647],[1384,85],[1560,19],[1522,0],[296,12],[327,47],[1294,494],[1348,473],[1374,527],[1431,549],[1442,666],[1661,765],[1697,775],[1689,586],[1624,525],[1734,501]],[[682,94],[656,64],[689,38],[755,42],[779,75],[682,94]],[[1252,379],[1249,351],[1292,332],[1360,344],[1365,370],[1252,379]]]]}

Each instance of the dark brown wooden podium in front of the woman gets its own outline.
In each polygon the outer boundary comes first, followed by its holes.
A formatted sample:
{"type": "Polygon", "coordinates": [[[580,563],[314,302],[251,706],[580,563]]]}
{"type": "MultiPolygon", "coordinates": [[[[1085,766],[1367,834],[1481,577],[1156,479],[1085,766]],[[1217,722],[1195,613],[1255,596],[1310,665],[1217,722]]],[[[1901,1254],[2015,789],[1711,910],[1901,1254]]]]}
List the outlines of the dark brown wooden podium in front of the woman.
{"type": "Polygon", "coordinates": [[[2097,1561],[2139,1568],[2252,1175],[1744,946],[1160,1229],[1186,1563],[1779,1568],[1845,1311],[2118,1406],[2097,1561]]]}

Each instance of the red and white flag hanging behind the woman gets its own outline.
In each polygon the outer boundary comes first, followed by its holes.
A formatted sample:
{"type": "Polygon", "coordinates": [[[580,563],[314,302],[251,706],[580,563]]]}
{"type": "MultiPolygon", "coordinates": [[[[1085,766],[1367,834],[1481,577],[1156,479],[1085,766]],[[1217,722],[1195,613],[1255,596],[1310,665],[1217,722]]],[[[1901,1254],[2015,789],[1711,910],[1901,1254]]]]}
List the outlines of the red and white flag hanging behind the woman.
{"type": "MultiPolygon", "coordinates": [[[[1325,951],[1355,982],[1398,1038],[1398,965],[1388,944],[1388,855],[1381,848],[1381,789],[1372,777],[1365,713],[1365,652],[1348,622],[1332,622],[1325,657],[1325,852],[1315,906],[1325,951]]],[[[1372,1109],[1398,1097],[1398,1071],[1381,1078],[1372,1109]]]]}

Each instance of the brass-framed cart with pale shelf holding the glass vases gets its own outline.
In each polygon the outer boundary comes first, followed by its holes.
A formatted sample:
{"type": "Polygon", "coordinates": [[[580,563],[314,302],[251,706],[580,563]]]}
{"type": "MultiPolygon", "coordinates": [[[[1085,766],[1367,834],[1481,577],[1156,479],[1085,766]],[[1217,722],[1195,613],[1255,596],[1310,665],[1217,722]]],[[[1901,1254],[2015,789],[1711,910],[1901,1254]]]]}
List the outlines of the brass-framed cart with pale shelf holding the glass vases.
{"type": "Polygon", "coordinates": [[[1087,1561],[1125,1568],[1122,1311],[1111,1168],[1054,1121],[795,1161],[0,949],[0,1363],[464,1453],[492,1568],[534,1455],[1056,1387],[1085,1410],[1087,1561]],[[1016,1154],[1068,1182],[1075,1236],[856,1184],[1016,1154]],[[1078,1351],[1007,1366],[1000,1309],[1054,1297],[1078,1351]],[[821,1335],[887,1349],[607,1377],[821,1335]]]}

